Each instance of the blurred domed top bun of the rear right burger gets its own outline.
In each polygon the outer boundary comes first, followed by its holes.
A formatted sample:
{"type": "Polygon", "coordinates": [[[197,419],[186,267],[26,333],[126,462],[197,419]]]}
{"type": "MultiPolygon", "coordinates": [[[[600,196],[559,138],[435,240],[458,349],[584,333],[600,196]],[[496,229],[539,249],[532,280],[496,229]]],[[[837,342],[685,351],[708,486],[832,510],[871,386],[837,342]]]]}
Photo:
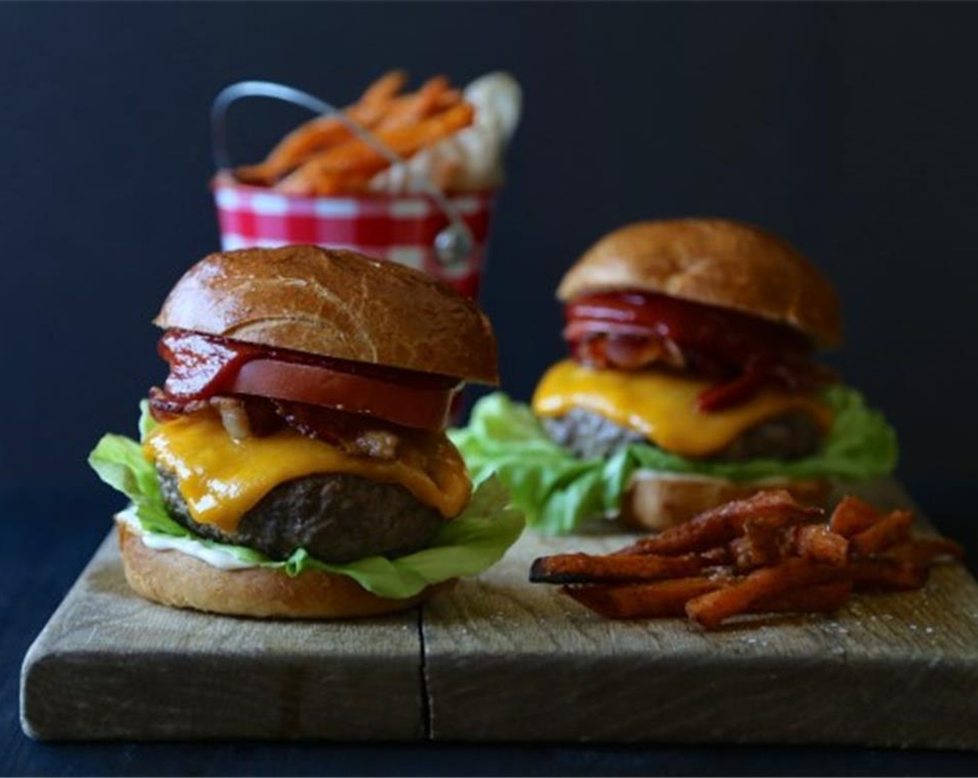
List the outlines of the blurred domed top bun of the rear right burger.
{"type": "Polygon", "coordinates": [[[804,256],[771,233],[727,219],[630,224],[567,271],[561,300],[642,290],[787,324],[822,346],[842,340],[839,301],[804,256]]]}

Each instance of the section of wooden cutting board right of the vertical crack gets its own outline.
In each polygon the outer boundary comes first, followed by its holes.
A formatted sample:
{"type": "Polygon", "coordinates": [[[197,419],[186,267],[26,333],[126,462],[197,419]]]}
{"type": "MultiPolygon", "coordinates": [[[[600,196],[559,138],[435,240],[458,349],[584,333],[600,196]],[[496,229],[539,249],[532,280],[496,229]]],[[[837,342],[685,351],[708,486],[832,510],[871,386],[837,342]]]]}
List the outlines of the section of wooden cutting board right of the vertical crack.
{"type": "MultiPolygon", "coordinates": [[[[861,491],[909,503],[892,481],[861,491]]],[[[935,569],[918,592],[857,596],[836,618],[710,633],[606,620],[526,583],[537,556],[624,543],[527,533],[427,606],[433,739],[978,748],[978,585],[962,566],[935,569]]]]}

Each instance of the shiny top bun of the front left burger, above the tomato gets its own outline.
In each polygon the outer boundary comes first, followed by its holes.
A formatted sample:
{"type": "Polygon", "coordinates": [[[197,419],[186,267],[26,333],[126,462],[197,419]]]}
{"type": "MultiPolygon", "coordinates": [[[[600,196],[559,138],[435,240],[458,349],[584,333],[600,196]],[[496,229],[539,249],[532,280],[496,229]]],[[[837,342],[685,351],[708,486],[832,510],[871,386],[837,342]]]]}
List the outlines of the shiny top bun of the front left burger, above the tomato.
{"type": "Polygon", "coordinates": [[[496,339],[475,304],[419,270],[287,246],[212,253],[154,323],[244,343],[496,385],[496,339]]]}

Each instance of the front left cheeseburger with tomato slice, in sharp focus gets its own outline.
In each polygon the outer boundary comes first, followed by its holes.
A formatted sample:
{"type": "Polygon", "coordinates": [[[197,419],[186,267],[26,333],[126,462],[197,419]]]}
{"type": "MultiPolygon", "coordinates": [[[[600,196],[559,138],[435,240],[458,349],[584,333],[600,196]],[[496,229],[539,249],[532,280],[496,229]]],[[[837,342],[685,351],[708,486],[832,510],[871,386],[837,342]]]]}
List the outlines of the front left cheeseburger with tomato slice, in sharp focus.
{"type": "Polygon", "coordinates": [[[163,303],[142,440],[107,435],[99,475],[133,589],[257,617],[401,610],[502,556],[495,483],[472,495],[444,435],[464,382],[497,383],[469,300],[392,262],[309,246],[215,253],[163,303]],[[419,556],[421,554],[421,556],[419,556]]]}

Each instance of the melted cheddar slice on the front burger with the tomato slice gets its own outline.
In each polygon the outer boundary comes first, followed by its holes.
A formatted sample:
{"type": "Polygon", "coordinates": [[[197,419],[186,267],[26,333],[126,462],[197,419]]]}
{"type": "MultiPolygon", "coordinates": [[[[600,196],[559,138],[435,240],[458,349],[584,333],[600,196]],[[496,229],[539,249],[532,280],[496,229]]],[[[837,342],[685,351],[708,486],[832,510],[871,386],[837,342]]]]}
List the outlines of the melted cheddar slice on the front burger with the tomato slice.
{"type": "Polygon", "coordinates": [[[351,456],[293,430],[236,440],[217,414],[203,412],[157,427],[143,454],[176,476],[195,521],[229,532],[280,483],[318,473],[400,483],[446,518],[455,517],[471,490],[465,463],[444,435],[424,439],[424,444],[402,439],[397,459],[378,460],[351,456]]]}

